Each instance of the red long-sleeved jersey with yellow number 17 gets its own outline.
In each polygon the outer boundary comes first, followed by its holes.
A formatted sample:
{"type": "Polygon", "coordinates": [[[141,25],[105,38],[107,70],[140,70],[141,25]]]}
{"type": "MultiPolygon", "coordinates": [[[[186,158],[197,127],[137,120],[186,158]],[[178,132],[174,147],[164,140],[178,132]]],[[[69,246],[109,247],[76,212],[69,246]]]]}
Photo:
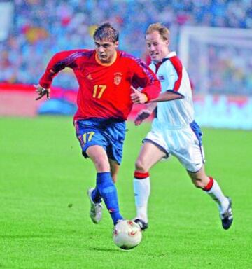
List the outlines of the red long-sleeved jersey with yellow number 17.
{"type": "Polygon", "coordinates": [[[78,110],[74,120],[119,118],[126,120],[132,109],[131,85],[144,88],[148,100],[158,97],[160,82],[140,59],[118,51],[116,60],[102,64],[95,50],[70,50],[55,54],[39,84],[50,88],[53,77],[65,67],[73,69],[79,83],[78,110]]]}

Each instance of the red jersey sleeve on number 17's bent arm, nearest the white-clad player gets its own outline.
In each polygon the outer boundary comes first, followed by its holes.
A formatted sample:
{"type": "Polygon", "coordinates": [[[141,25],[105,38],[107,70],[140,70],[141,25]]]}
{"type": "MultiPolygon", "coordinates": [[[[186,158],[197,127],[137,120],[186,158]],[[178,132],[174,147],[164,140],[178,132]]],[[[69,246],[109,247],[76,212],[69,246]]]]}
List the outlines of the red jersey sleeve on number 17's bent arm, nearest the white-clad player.
{"type": "Polygon", "coordinates": [[[143,88],[141,92],[146,95],[148,101],[155,99],[161,90],[160,81],[158,81],[153,71],[142,60],[136,58],[133,61],[134,76],[132,85],[134,88],[143,88]]]}

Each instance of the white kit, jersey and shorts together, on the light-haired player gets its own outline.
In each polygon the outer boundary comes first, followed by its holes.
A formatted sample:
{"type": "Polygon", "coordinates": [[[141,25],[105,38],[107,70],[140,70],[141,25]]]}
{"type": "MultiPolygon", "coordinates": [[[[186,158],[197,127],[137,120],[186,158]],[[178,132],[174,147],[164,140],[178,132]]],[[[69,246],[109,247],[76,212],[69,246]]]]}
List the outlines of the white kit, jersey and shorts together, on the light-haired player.
{"type": "Polygon", "coordinates": [[[167,157],[176,156],[186,170],[197,172],[204,164],[204,149],[200,126],[194,121],[193,95],[187,71],[175,52],[150,67],[160,80],[162,92],[171,90],[184,98],[158,102],[158,115],[144,142],[155,144],[167,157]]]}

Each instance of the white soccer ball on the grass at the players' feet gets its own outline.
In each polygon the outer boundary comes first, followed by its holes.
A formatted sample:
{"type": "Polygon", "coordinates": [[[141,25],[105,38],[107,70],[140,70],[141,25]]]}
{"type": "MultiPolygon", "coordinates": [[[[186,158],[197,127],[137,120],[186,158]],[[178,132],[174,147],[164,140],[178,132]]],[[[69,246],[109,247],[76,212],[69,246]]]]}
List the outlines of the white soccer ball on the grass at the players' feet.
{"type": "Polygon", "coordinates": [[[141,238],[141,228],[134,221],[119,221],[113,229],[113,242],[121,249],[137,247],[141,238]]]}

